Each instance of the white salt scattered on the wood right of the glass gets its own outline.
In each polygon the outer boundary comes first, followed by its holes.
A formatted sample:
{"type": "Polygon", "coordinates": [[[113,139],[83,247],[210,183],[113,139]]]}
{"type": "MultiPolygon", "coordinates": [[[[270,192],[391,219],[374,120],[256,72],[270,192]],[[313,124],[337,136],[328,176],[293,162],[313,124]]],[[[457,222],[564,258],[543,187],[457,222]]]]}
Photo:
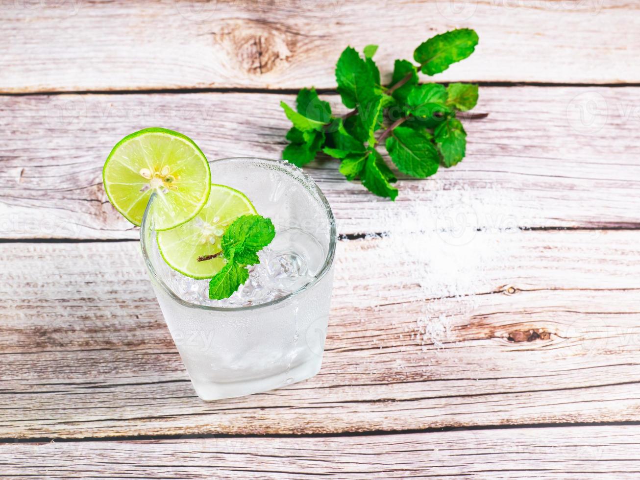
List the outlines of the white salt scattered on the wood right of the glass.
{"type": "Polygon", "coordinates": [[[426,351],[453,342],[455,323],[468,323],[481,301],[477,294],[495,290],[501,279],[491,274],[509,268],[512,236],[534,224],[537,207],[534,199],[518,192],[515,202],[516,192],[491,184],[471,189],[434,179],[420,188],[431,191],[429,202],[386,204],[380,216],[387,232],[365,238],[381,239],[379,248],[394,252],[398,262],[385,271],[388,278],[400,279],[401,289],[418,286],[410,338],[426,351]]]}

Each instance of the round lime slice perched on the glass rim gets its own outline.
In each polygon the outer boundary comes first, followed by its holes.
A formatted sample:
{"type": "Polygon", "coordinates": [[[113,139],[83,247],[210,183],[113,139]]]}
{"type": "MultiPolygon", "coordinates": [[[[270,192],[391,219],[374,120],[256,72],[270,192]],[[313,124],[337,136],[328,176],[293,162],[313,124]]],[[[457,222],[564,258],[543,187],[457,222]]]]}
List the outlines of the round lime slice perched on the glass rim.
{"type": "Polygon", "coordinates": [[[190,138],[167,129],[150,128],[120,140],[107,157],[102,181],[109,202],[134,225],[152,193],[156,230],[191,220],[209,198],[211,170],[190,138]]]}

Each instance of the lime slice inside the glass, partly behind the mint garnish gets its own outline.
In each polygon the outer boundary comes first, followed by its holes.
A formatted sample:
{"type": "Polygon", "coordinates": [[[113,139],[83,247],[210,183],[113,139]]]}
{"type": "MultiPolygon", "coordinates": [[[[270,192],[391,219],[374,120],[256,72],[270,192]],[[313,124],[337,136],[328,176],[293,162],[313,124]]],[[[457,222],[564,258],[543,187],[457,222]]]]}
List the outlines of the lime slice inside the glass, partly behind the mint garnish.
{"type": "Polygon", "coordinates": [[[225,265],[220,256],[198,262],[198,257],[221,252],[220,237],[242,215],[255,215],[246,195],[224,185],[211,185],[209,201],[193,220],[180,227],[157,232],[160,255],[174,270],[191,278],[211,278],[225,265]]]}

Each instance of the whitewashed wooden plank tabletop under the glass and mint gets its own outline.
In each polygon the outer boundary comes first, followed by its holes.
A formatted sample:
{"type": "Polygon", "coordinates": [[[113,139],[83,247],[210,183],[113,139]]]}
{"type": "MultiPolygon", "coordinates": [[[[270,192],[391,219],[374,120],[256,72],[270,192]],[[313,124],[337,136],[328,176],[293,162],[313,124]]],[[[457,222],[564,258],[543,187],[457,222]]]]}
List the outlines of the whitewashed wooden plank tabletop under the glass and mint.
{"type": "Polygon", "coordinates": [[[640,477],[640,7],[623,0],[9,1],[0,10],[0,477],[640,477]],[[467,158],[396,202],[307,168],[340,242],[312,380],[205,403],[109,205],[116,140],[280,157],[340,51],[447,29],[467,158]]]}

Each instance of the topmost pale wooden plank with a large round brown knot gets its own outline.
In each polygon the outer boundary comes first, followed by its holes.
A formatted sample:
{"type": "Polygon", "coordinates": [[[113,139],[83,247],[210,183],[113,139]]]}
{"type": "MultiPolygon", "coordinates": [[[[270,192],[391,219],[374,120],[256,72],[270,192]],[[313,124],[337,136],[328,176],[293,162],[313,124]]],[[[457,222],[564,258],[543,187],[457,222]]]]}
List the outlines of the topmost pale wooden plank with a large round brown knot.
{"type": "Polygon", "coordinates": [[[380,44],[388,79],[396,58],[460,26],[481,43],[445,81],[640,81],[640,15],[623,0],[69,0],[4,6],[0,92],[335,88],[347,45],[380,44]]]}

